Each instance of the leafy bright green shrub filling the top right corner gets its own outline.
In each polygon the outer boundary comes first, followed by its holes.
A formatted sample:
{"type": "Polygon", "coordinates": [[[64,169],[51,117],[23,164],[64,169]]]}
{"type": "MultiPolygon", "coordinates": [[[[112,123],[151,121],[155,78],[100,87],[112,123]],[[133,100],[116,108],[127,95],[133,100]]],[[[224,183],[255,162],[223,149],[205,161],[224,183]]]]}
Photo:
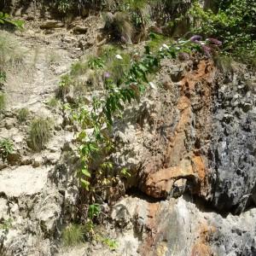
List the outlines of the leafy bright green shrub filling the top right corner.
{"type": "Polygon", "coordinates": [[[225,52],[238,61],[255,64],[256,54],[256,2],[251,0],[219,1],[218,11],[204,10],[195,3],[189,10],[193,16],[192,32],[205,37],[218,38],[225,52]]]}

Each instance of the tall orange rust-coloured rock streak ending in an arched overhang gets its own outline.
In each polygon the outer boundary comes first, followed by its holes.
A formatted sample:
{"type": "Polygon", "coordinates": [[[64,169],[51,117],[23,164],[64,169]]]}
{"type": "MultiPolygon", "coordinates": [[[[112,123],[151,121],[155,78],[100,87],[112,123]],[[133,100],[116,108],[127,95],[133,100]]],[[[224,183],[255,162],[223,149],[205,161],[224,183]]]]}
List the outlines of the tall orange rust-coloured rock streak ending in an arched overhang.
{"type": "MultiPolygon", "coordinates": [[[[207,158],[201,154],[201,148],[207,147],[207,135],[211,129],[211,95],[215,69],[212,61],[200,61],[196,70],[189,71],[178,83],[180,97],[175,108],[179,118],[169,143],[166,147],[162,168],[154,171],[148,165],[143,171],[142,189],[155,198],[165,197],[178,178],[193,179],[197,186],[193,191],[199,195],[207,195],[207,158]],[[201,91],[197,85],[200,84],[201,91]],[[188,138],[195,137],[195,144],[188,146],[188,138]],[[201,145],[204,143],[204,145],[201,145]],[[151,171],[149,171],[151,170],[151,171]]],[[[158,161],[159,163],[159,161],[158,161]]],[[[159,165],[159,164],[158,164],[159,165]]]]}

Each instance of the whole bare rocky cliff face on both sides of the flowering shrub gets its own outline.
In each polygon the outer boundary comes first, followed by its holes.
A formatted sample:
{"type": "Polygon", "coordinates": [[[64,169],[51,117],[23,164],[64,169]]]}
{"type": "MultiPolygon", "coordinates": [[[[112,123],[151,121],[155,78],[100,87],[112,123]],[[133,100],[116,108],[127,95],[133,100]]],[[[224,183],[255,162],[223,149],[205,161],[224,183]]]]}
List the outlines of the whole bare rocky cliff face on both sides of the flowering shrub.
{"type": "Polygon", "coordinates": [[[9,71],[3,88],[9,107],[0,137],[12,138],[15,153],[0,162],[0,254],[256,255],[256,77],[237,63],[220,71],[201,55],[164,59],[155,88],[113,125],[111,159],[133,173],[126,195],[105,206],[104,232],[119,247],[61,247],[61,230],[79,200],[77,127],[46,102],[69,64],[101,43],[98,20],[75,20],[70,30],[61,21],[28,21],[29,29],[15,34],[27,53],[24,67],[36,61],[25,72],[9,71]],[[55,119],[39,154],[26,143],[30,120],[17,120],[21,107],[55,119]]]}

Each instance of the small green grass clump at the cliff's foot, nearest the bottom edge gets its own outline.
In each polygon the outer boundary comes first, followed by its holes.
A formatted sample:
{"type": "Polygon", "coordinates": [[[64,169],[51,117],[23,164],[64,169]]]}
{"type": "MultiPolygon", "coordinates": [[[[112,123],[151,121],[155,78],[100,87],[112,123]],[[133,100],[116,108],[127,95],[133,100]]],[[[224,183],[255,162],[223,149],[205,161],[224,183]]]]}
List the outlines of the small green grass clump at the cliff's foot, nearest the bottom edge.
{"type": "Polygon", "coordinates": [[[78,224],[69,224],[62,232],[64,246],[73,247],[84,242],[84,227],[78,224]]]}

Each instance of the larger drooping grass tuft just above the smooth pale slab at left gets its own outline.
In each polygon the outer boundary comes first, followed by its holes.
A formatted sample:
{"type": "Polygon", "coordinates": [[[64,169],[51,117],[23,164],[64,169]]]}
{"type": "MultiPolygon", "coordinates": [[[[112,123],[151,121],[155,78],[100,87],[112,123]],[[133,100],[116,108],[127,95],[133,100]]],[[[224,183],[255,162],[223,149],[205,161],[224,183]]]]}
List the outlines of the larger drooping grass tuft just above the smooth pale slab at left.
{"type": "Polygon", "coordinates": [[[30,147],[34,151],[41,151],[51,137],[52,122],[49,119],[38,117],[32,120],[29,131],[30,147]]]}

